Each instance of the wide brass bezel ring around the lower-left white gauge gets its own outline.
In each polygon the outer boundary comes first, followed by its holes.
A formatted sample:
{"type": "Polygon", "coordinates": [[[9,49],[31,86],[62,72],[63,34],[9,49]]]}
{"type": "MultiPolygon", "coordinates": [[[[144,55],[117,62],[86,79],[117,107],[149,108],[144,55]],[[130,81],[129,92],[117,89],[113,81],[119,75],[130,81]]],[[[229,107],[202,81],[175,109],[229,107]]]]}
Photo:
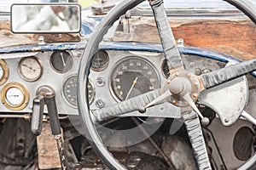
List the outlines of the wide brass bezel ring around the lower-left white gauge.
{"type": "Polygon", "coordinates": [[[29,102],[29,93],[24,85],[22,85],[20,82],[9,82],[6,84],[2,91],[1,91],[1,99],[2,103],[5,107],[7,107],[11,111],[21,111],[23,110],[29,102]],[[23,99],[20,105],[12,105],[9,103],[8,99],[6,98],[6,93],[10,88],[18,88],[20,89],[21,93],[23,94],[23,99]]]}

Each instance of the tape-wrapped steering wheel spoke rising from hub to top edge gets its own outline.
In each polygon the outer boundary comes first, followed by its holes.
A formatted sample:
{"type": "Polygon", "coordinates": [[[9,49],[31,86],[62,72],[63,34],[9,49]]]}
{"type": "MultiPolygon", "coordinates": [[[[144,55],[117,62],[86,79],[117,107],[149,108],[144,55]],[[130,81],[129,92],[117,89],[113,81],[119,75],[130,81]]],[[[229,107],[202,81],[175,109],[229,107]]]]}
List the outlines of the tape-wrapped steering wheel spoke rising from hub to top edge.
{"type": "Polygon", "coordinates": [[[169,70],[183,68],[183,61],[178,51],[175,38],[169,25],[163,0],[148,0],[154,13],[154,20],[167,59],[169,70]]]}

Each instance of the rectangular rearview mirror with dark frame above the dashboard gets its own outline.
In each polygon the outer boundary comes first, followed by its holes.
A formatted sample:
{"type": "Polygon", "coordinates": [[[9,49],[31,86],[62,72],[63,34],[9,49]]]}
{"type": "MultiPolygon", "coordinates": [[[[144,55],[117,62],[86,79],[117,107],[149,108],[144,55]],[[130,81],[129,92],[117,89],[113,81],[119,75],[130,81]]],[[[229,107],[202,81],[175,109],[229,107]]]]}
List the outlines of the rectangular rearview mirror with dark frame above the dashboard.
{"type": "Polygon", "coordinates": [[[79,4],[13,4],[11,30],[15,33],[77,33],[81,28],[79,4]]]}

